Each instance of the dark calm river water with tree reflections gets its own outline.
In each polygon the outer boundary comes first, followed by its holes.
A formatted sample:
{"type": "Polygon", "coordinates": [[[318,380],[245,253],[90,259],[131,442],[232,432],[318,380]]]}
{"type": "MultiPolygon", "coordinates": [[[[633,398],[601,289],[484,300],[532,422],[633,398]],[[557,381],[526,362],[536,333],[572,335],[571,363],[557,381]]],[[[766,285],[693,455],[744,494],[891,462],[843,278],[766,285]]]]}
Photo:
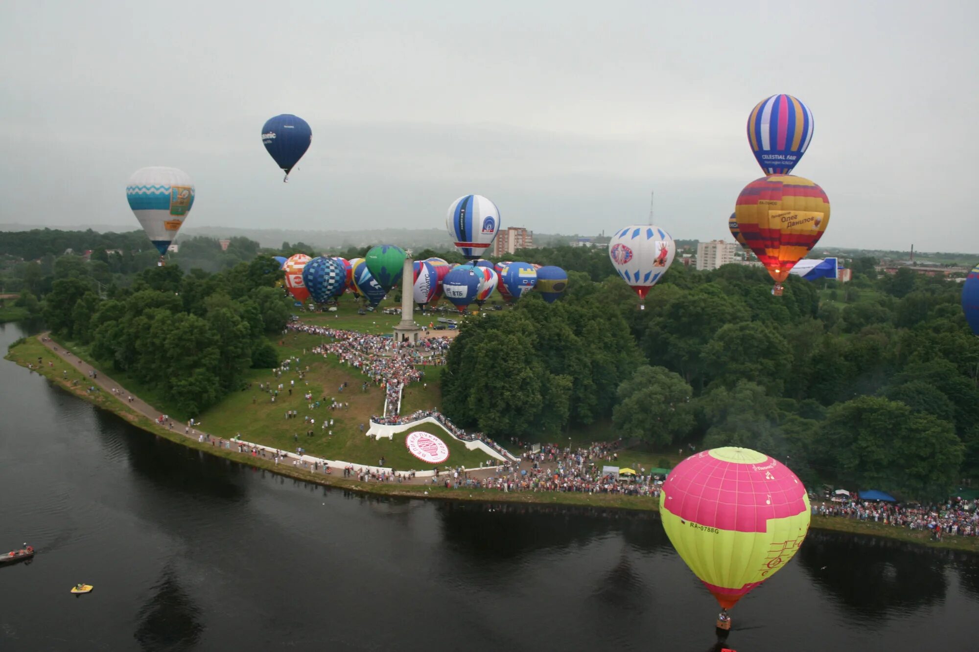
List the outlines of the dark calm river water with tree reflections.
{"type": "MultiPolygon", "coordinates": [[[[22,326],[0,325],[0,350],[22,326]]],[[[0,360],[0,650],[706,650],[651,515],[378,499],[157,440],[0,360]],[[72,596],[75,582],[89,595],[72,596]]],[[[977,649],[979,560],[812,533],[727,645],[977,649]]]]}

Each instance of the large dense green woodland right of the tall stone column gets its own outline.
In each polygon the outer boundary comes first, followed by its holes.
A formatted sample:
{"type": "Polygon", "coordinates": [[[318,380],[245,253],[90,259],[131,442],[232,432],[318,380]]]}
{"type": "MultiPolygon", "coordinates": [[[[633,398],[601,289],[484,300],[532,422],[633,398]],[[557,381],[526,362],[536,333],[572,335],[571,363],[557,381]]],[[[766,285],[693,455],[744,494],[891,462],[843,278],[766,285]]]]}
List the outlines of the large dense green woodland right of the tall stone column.
{"type": "Polygon", "coordinates": [[[552,440],[610,417],[627,438],[750,446],[810,483],[911,498],[979,476],[979,338],[959,284],[908,269],[877,278],[861,259],[852,283],[793,277],[778,298],[759,268],[675,265],[640,311],[581,257],[562,301],[532,294],[463,327],[443,381],[449,416],[552,440]]]}

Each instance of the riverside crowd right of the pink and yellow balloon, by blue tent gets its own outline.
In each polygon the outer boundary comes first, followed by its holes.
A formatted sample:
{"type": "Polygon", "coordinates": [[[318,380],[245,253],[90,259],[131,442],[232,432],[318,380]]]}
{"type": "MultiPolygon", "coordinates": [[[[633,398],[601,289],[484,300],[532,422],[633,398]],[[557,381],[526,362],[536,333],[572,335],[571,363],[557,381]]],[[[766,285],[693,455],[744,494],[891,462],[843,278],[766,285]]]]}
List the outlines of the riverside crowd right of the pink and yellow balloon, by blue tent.
{"type": "Polygon", "coordinates": [[[813,503],[814,516],[873,521],[896,528],[930,532],[932,538],[943,536],[979,536],[979,509],[976,502],[953,498],[941,504],[901,505],[853,498],[813,503]]]}

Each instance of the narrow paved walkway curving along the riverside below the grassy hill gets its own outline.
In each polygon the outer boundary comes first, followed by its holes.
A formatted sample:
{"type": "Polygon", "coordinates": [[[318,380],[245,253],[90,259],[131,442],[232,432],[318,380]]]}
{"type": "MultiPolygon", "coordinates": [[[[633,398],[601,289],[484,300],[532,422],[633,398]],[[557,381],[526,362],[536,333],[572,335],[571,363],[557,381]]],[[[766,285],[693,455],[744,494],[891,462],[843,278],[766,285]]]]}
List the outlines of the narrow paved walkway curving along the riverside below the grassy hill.
{"type": "MultiPolygon", "coordinates": [[[[88,376],[89,382],[91,384],[93,384],[93,385],[101,388],[102,390],[104,390],[104,391],[106,391],[106,392],[108,392],[110,394],[113,394],[114,396],[117,396],[119,398],[119,400],[122,400],[123,402],[126,402],[129,405],[129,407],[131,407],[135,411],[139,412],[140,414],[142,414],[143,416],[149,418],[150,420],[152,420],[152,421],[154,421],[156,423],[159,423],[160,417],[163,416],[163,412],[162,411],[160,411],[159,409],[153,407],[152,405],[150,405],[146,401],[142,400],[139,396],[136,396],[133,393],[129,392],[128,390],[126,390],[125,388],[123,388],[120,384],[118,384],[115,380],[113,380],[109,376],[106,376],[105,374],[103,374],[99,370],[95,369],[88,362],[85,362],[84,360],[82,360],[81,358],[79,358],[77,355],[74,355],[73,353],[71,353],[69,350],[64,349],[57,342],[54,342],[53,340],[49,339],[49,337],[48,337],[49,335],[50,335],[50,333],[48,333],[48,332],[41,333],[40,335],[37,336],[37,341],[40,342],[42,345],[44,345],[47,349],[50,349],[55,355],[58,355],[60,358],[62,358],[66,362],[70,363],[71,366],[73,366],[75,369],[77,369],[78,371],[80,371],[80,372],[84,373],[86,376],[88,376]],[[95,374],[95,377],[94,378],[92,377],[92,373],[93,372],[95,374]]],[[[222,446],[225,449],[230,449],[230,450],[234,451],[235,448],[238,446],[238,442],[236,442],[234,440],[226,440],[226,439],[221,438],[221,437],[211,436],[209,433],[207,433],[207,432],[205,432],[203,430],[197,429],[197,428],[190,428],[187,433],[181,433],[180,430],[181,429],[185,429],[186,428],[185,425],[184,424],[181,424],[179,422],[173,422],[172,419],[168,420],[166,423],[168,424],[170,431],[172,431],[174,433],[177,433],[178,435],[184,435],[185,437],[187,437],[190,440],[197,441],[198,438],[203,435],[206,438],[210,438],[210,440],[212,442],[216,442],[216,445],[222,446]]],[[[258,446],[258,447],[264,449],[265,451],[274,452],[275,450],[277,450],[276,448],[274,448],[272,446],[265,446],[264,444],[256,444],[256,443],[244,442],[244,441],[241,442],[241,443],[242,444],[245,444],[246,446],[249,446],[249,447],[250,446],[258,446]]],[[[282,456],[286,458],[285,461],[280,462],[281,464],[291,464],[293,461],[302,461],[302,459],[303,459],[303,458],[300,457],[300,455],[298,455],[296,453],[293,453],[293,452],[289,452],[289,451],[286,451],[286,450],[282,450],[280,452],[281,452],[282,456]]],[[[241,454],[241,456],[243,458],[244,457],[252,457],[252,455],[250,453],[248,453],[248,452],[242,452],[240,454],[241,454]]],[[[311,466],[312,460],[318,460],[320,462],[323,462],[324,461],[324,458],[318,457],[318,456],[315,456],[315,455],[305,455],[304,458],[305,458],[305,460],[307,460],[308,462],[310,462],[310,465],[309,465],[308,468],[305,467],[305,466],[303,466],[303,470],[309,471],[310,473],[316,473],[315,471],[312,470],[312,466],[311,466]]],[[[357,468],[376,469],[376,468],[378,468],[378,467],[370,466],[368,464],[357,464],[355,462],[344,462],[344,461],[340,461],[340,460],[325,460],[325,461],[327,463],[330,463],[331,466],[333,466],[334,472],[332,474],[330,474],[332,477],[341,477],[341,478],[343,478],[343,472],[341,470],[339,470],[339,469],[342,469],[345,466],[353,466],[354,469],[357,469],[357,468]]],[[[390,469],[389,469],[389,471],[390,471],[390,469]]],[[[471,477],[473,477],[473,478],[489,478],[490,476],[495,475],[495,473],[496,472],[494,470],[485,469],[485,470],[472,470],[472,471],[469,472],[469,475],[471,477]]],[[[446,474],[448,476],[450,476],[451,475],[451,471],[443,471],[443,473],[440,474],[440,476],[441,477],[444,477],[446,474]]],[[[349,478],[349,480],[356,480],[356,478],[355,477],[349,478]]],[[[431,483],[431,481],[432,481],[431,478],[416,477],[416,478],[414,478],[412,480],[406,480],[402,484],[423,485],[423,484],[431,483]]],[[[374,481],[373,483],[364,483],[364,484],[377,484],[377,483],[376,483],[376,481],[374,481]]]]}

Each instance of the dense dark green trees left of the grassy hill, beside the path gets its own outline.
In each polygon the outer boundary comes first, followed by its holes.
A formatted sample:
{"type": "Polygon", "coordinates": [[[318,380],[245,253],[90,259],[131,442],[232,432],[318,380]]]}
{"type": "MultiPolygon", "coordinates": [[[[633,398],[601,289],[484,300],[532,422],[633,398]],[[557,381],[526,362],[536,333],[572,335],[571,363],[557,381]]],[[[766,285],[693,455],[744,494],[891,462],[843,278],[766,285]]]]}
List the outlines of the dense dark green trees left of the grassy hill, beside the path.
{"type": "Polygon", "coordinates": [[[292,302],[274,287],[281,273],[271,257],[219,274],[152,267],[102,294],[87,272],[56,273],[44,299],[47,326],[187,414],[238,389],[250,367],[278,364],[266,336],[285,328],[292,302]]]}

